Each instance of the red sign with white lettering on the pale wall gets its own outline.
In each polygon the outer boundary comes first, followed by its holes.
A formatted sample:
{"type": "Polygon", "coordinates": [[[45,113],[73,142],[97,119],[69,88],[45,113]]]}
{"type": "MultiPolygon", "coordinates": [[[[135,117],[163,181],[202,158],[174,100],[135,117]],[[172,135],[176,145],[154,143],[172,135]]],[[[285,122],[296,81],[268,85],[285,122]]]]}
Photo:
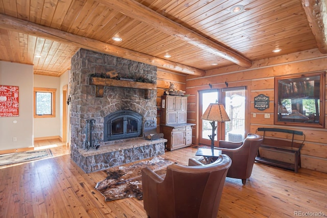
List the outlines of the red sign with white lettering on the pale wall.
{"type": "Polygon", "coordinates": [[[18,116],[18,86],[0,85],[0,117],[18,116]]]}

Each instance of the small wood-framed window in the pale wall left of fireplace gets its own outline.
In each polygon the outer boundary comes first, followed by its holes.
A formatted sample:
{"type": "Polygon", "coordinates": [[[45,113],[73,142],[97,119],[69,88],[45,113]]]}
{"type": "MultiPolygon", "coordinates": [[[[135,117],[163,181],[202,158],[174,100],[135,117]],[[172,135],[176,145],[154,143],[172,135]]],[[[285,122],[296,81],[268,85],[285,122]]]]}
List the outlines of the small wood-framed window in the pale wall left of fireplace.
{"type": "Polygon", "coordinates": [[[55,88],[34,88],[34,117],[56,116],[56,90],[55,88]]]}

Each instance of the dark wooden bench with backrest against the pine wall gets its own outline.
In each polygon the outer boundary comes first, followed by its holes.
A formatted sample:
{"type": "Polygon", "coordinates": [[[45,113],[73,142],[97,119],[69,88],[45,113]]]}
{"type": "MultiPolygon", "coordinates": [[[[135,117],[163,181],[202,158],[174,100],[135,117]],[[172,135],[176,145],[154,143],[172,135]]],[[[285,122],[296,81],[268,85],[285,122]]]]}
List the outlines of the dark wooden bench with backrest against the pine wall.
{"type": "Polygon", "coordinates": [[[305,134],[301,131],[279,129],[279,128],[258,128],[256,132],[263,131],[263,142],[255,157],[257,162],[266,163],[273,166],[292,169],[295,173],[298,172],[298,167],[301,167],[300,150],[304,146],[306,139],[305,134]],[[295,137],[295,136],[299,137],[295,137]],[[274,152],[284,152],[294,155],[294,162],[286,162],[281,160],[274,160],[269,157],[261,157],[260,150],[268,150],[274,152]]]}

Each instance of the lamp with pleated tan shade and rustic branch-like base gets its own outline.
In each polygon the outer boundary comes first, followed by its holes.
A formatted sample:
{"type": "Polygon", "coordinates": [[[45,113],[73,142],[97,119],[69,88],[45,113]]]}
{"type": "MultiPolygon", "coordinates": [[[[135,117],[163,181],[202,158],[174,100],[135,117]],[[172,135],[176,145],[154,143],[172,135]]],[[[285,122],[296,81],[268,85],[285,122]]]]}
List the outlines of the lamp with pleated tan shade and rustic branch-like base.
{"type": "Polygon", "coordinates": [[[230,119],[226,113],[224,105],[220,104],[220,103],[209,104],[208,108],[205,110],[205,112],[201,116],[201,119],[211,121],[210,124],[213,128],[213,131],[212,131],[212,135],[208,135],[208,136],[211,139],[211,150],[212,150],[212,152],[214,152],[215,135],[216,135],[215,131],[217,129],[216,121],[217,122],[226,122],[226,121],[230,121],[230,119]]]}

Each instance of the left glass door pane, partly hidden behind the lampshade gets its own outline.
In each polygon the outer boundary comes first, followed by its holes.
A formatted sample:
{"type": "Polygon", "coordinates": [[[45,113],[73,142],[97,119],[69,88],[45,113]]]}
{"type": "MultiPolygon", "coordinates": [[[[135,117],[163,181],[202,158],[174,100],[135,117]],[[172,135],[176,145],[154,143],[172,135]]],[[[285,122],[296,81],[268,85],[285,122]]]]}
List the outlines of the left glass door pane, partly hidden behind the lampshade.
{"type": "MultiPolygon", "coordinates": [[[[218,102],[218,92],[205,92],[202,93],[202,114],[207,109],[210,103],[218,102]]],[[[212,134],[212,126],[209,120],[202,119],[202,138],[209,139],[208,135],[212,134]]],[[[217,134],[217,129],[216,129],[217,134]]],[[[217,137],[215,137],[215,141],[217,141],[217,137]]]]}

